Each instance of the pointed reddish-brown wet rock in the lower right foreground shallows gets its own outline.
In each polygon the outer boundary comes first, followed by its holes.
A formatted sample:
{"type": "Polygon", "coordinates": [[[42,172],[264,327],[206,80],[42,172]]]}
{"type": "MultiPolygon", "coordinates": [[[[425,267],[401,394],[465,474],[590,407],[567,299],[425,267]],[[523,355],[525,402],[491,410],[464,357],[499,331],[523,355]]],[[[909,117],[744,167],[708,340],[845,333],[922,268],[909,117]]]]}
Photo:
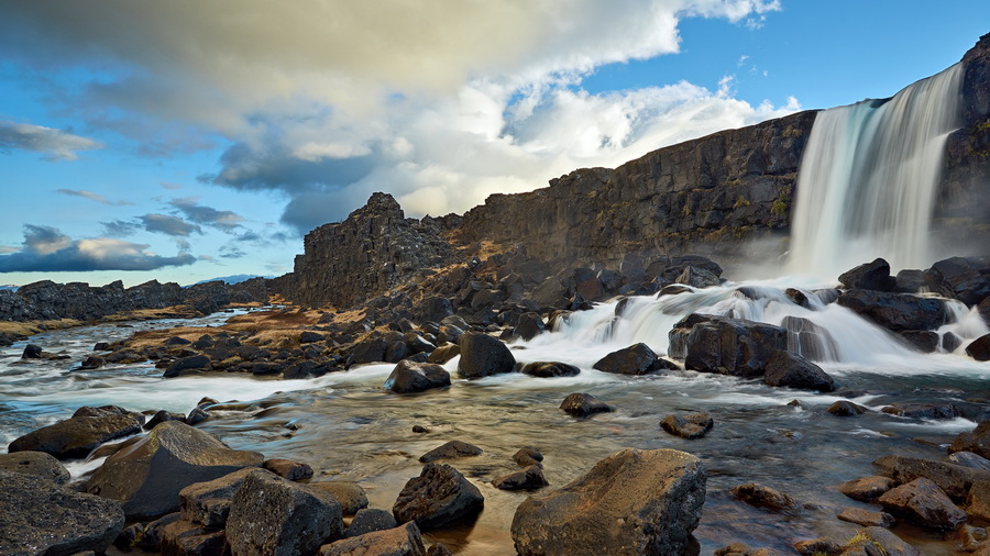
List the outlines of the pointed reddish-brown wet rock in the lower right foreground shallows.
{"type": "Polygon", "coordinates": [[[966,512],[925,478],[890,489],[877,500],[888,512],[925,527],[953,530],[966,521],[966,512]]]}

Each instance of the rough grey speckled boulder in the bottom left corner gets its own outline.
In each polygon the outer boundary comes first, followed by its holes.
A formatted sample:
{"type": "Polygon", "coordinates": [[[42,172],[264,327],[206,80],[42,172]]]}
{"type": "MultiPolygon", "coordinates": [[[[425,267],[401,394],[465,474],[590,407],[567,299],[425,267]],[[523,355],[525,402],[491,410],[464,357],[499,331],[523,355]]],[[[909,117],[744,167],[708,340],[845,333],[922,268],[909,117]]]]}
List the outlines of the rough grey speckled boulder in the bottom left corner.
{"type": "Polygon", "coordinates": [[[120,502],[0,470],[0,554],[103,553],[123,529],[120,502]]]}

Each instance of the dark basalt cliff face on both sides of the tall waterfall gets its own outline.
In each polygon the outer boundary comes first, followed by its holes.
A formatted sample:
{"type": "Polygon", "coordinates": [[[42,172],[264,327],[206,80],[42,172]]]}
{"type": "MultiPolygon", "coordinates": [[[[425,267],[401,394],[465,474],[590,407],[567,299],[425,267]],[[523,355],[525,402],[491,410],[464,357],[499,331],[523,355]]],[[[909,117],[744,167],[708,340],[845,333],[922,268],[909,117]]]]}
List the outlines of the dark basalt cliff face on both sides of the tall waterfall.
{"type": "MultiPolygon", "coordinates": [[[[963,126],[946,146],[935,232],[990,244],[990,35],[963,59],[963,126]]],[[[817,112],[805,111],[664,147],[615,169],[585,168],[527,193],[493,194],[463,218],[405,219],[372,196],[345,221],[306,236],[294,273],[272,282],[292,301],[348,308],[465,263],[492,242],[548,265],[619,268],[705,255],[732,264],[782,255],[817,112]],[[762,242],[755,240],[765,240],[762,242]]],[[[977,243],[978,244],[978,243],[977,243]]]]}

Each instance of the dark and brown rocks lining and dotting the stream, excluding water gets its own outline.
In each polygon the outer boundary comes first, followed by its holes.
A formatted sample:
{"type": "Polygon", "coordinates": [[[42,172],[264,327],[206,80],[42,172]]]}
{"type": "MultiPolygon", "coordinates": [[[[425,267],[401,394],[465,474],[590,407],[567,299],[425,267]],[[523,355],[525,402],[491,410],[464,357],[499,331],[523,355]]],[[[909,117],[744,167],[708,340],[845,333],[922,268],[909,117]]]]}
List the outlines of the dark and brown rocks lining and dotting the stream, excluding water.
{"type": "MultiPolygon", "coordinates": [[[[844,274],[838,289],[794,289],[787,296],[788,302],[804,307],[838,303],[919,351],[946,351],[954,347],[948,345],[952,340],[933,332],[947,320],[944,299],[976,308],[990,322],[986,311],[990,304],[988,267],[985,259],[954,257],[926,270],[891,276],[886,262],[878,259],[844,274]],[[922,288],[944,298],[917,296],[922,288]],[[926,337],[931,334],[936,336],[934,342],[926,337]]],[[[80,362],[80,367],[99,368],[100,359],[151,359],[164,369],[164,377],[233,371],[302,378],[343,372],[365,363],[393,363],[395,368],[383,388],[404,396],[451,388],[450,372],[441,364],[454,356],[460,356],[457,372],[461,378],[504,372],[566,377],[580,369],[560,362],[517,364],[504,341],[546,333],[575,311],[614,294],[675,297],[722,281],[722,268],[704,257],[628,263],[620,270],[575,268],[534,279],[539,270],[537,263],[518,255],[496,254],[485,260],[473,257],[431,277],[416,298],[411,291],[398,289],[371,300],[360,311],[284,308],[231,319],[211,334],[202,334],[201,329],[139,333],[120,343],[95,346],[100,355],[80,362]]],[[[738,293],[763,294],[756,290],[738,293]]],[[[686,368],[760,380],[772,387],[820,392],[837,388],[832,377],[806,358],[827,351],[834,342],[809,321],[792,319],[784,326],[771,326],[692,313],[673,327],[670,341],[668,354],[658,355],[644,344],[630,345],[602,358],[594,368],[632,376],[686,368]]],[[[988,343],[990,335],[980,337],[967,353],[987,360],[988,343]]],[[[29,346],[23,357],[30,364],[32,357],[45,355],[42,346],[29,346]]],[[[361,508],[363,493],[356,485],[314,481],[312,468],[306,463],[231,451],[194,426],[208,420],[211,412],[234,408],[237,403],[210,399],[185,415],[80,408],[69,420],[15,440],[2,456],[4,469],[44,479],[4,480],[15,483],[18,493],[7,502],[4,513],[37,513],[47,503],[41,500],[57,499],[62,501],[57,518],[62,521],[45,524],[34,535],[24,534],[31,524],[12,522],[16,530],[0,533],[0,549],[44,552],[42,544],[51,542],[44,546],[53,553],[100,552],[113,543],[119,549],[164,554],[448,554],[442,544],[427,548],[421,532],[470,523],[484,508],[484,497],[457,469],[458,460],[481,453],[476,446],[452,441],[424,454],[422,474],[408,481],[389,513],[361,508]],[[138,435],[142,431],[147,431],[146,435],[138,435]],[[112,444],[121,437],[128,440],[112,444]],[[67,472],[54,458],[85,457],[94,451],[109,457],[78,486],[79,491],[58,486],[67,472]],[[350,503],[353,499],[359,502],[350,503]],[[345,515],[353,518],[344,520],[345,515]],[[57,541],[52,541],[53,531],[62,532],[57,541]]],[[[578,419],[612,409],[583,392],[561,403],[562,411],[578,419]]],[[[846,401],[836,402],[828,412],[855,415],[861,411],[867,409],[846,401]]],[[[990,521],[990,511],[983,510],[990,504],[983,492],[990,492],[983,485],[990,480],[983,476],[990,472],[990,460],[985,459],[990,457],[990,405],[974,400],[952,405],[892,404],[883,411],[935,419],[965,415],[981,424],[972,433],[959,435],[944,462],[891,455],[876,462],[878,476],[849,477],[839,490],[875,509],[850,507],[837,519],[865,529],[851,538],[804,540],[795,549],[801,554],[871,554],[867,547],[881,546],[888,554],[919,554],[886,529],[908,523],[969,535],[967,546],[975,554],[990,553],[979,527],[983,520],[990,521]]],[[[706,414],[673,413],[660,426],[682,438],[701,438],[713,421],[706,414]]],[[[583,554],[590,547],[594,549],[588,554],[600,554],[603,547],[618,554],[691,554],[697,549],[691,532],[704,507],[705,470],[690,454],[672,449],[617,453],[561,488],[547,487],[538,449],[520,446],[516,456],[518,471],[495,478],[493,485],[534,492],[513,520],[512,537],[519,554],[583,554]],[[632,496],[637,492],[642,498],[632,496]],[[627,521],[627,529],[613,526],[616,519],[627,515],[642,521],[627,521]],[[664,526],[657,527],[657,523],[664,526]]],[[[772,485],[744,483],[730,494],[783,515],[802,508],[801,501],[772,485]]],[[[716,554],[773,553],[732,544],[716,554]]]]}

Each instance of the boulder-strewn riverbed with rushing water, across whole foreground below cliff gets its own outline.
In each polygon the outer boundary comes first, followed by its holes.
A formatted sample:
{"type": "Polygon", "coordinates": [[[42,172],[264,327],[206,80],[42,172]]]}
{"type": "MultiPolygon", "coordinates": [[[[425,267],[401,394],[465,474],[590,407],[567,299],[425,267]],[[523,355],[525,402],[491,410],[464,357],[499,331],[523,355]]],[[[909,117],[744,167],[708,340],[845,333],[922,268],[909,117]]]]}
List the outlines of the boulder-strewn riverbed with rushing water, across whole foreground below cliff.
{"type": "MultiPolygon", "coordinates": [[[[981,262],[890,276],[879,260],[815,285],[725,282],[700,257],[540,280],[521,257],[475,260],[354,311],[15,342],[4,457],[54,454],[98,497],[79,503],[103,529],[73,551],[788,554],[824,537],[802,549],[954,554],[986,535],[981,262]],[[229,475],[242,467],[258,470],[229,475]],[[106,499],[120,505],[85,505],[106,499]],[[345,524],[392,529],[332,544],[345,524]]],[[[18,488],[22,513],[40,492],[82,496],[18,488]]]]}

